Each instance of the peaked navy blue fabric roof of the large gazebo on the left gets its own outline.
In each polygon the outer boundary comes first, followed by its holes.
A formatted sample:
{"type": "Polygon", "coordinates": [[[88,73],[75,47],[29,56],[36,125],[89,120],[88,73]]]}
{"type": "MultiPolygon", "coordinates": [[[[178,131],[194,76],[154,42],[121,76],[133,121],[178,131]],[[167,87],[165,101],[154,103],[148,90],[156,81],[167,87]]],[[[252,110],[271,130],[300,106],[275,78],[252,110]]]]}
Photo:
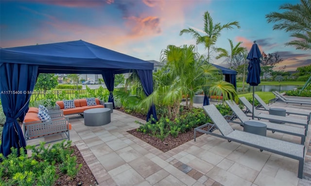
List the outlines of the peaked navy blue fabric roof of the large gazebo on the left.
{"type": "Polygon", "coordinates": [[[39,73],[115,74],[153,70],[154,64],[82,40],[0,49],[0,63],[39,65],[39,73]]]}

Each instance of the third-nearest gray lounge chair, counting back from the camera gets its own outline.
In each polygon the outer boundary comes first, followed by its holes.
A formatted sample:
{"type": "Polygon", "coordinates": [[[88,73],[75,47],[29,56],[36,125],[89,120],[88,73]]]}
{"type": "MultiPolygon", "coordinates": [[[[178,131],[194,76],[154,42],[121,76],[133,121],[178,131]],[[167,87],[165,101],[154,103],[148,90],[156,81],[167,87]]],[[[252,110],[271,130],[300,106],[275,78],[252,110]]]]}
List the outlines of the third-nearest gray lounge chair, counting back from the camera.
{"type": "MultiPolygon", "coordinates": [[[[245,97],[239,97],[239,99],[242,101],[244,106],[246,107],[246,112],[252,113],[253,106],[245,97]]],[[[266,119],[269,121],[275,121],[275,122],[285,122],[289,124],[298,124],[298,125],[303,125],[306,129],[306,133],[308,131],[308,120],[304,119],[298,119],[298,118],[292,118],[292,117],[285,117],[285,116],[277,116],[277,115],[270,115],[270,114],[263,114],[260,113],[258,110],[254,109],[254,117],[258,119],[266,119]]]]}

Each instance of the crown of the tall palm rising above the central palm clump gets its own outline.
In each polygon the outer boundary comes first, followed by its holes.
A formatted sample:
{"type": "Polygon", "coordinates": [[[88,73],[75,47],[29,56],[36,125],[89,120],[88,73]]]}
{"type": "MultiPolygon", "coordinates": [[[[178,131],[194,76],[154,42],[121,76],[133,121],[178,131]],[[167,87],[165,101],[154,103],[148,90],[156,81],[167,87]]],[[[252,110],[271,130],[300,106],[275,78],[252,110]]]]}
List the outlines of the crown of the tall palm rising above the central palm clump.
{"type": "Polygon", "coordinates": [[[215,47],[216,41],[219,36],[221,36],[221,31],[224,29],[233,29],[236,26],[240,29],[240,23],[238,21],[229,22],[222,25],[221,23],[213,23],[212,17],[206,11],[203,15],[204,29],[206,35],[201,35],[198,31],[188,28],[180,31],[179,35],[184,33],[190,33],[192,38],[196,40],[196,44],[204,44],[205,49],[207,49],[207,62],[210,60],[210,53],[213,51],[221,52],[224,51],[223,48],[215,47]]]}

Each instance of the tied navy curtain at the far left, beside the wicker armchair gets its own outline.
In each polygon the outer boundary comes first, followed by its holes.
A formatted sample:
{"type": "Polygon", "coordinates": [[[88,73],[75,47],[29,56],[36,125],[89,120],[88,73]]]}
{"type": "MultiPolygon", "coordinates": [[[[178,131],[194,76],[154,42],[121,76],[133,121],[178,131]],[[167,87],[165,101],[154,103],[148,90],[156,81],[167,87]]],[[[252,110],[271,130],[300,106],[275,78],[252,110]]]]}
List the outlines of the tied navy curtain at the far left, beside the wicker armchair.
{"type": "Polygon", "coordinates": [[[29,106],[38,65],[0,63],[0,98],[6,122],[3,126],[0,153],[7,156],[11,147],[25,147],[25,139],[17,118],[23,118],[29,106]]]}

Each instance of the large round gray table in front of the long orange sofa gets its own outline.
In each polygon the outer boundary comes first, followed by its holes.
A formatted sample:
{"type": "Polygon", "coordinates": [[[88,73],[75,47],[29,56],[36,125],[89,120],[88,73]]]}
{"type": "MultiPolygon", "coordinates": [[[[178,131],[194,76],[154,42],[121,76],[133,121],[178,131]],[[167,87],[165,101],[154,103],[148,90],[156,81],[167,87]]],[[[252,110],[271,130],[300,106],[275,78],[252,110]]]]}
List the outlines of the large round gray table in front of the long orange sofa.
{"type": "Polygon", "coordinates": [[[86,126],[101,126],[111,122],[110,109],[108,108],[87,109],[83,115],[86,126]]]}

